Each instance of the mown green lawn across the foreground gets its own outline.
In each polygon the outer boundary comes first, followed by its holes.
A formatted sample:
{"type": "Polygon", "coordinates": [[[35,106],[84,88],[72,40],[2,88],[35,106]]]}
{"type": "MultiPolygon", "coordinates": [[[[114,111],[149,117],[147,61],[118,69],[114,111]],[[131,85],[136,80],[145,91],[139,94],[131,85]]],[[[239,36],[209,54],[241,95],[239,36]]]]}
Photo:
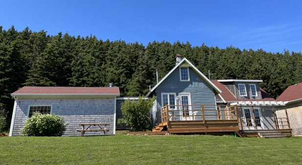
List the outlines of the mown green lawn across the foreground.
{"type": "Polygon", "coordinates": [[[302,164],[302,138],[0,137],[0,164],[302,164]]]}

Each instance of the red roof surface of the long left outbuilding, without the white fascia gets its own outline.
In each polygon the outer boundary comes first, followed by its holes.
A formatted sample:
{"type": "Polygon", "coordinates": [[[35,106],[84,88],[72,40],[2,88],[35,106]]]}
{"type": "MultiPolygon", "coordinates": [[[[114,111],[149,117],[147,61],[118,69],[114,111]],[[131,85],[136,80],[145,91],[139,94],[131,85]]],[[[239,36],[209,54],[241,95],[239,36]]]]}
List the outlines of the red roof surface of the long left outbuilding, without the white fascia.
{"type": "Polygon", "coordinates": [[[12,94],[120,94],[119,87],[24,86],[12,94]]]}

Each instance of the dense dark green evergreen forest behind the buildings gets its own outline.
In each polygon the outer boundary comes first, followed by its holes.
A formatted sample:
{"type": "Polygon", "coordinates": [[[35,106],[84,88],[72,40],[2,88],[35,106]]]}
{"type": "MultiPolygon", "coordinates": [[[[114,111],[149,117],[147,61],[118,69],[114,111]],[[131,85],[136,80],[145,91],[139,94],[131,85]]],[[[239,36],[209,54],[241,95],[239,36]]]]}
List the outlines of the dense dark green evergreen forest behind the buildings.
{"type": "Polygon", "coordinates": [[[0,105],[13,109],[10,93],[27,86],[119,86],[122,96],[145,95],[156,83],[155,70],[163,78],[174,66],[175,55],[191,61],[211,79],[261,79],[261,87],[278,97],[288,85],[302,82],[301,52],[283,53],[192,46],[153,41],[146,47],[138,42],[103,41],[26,27],[0,26],[0,105]]]}

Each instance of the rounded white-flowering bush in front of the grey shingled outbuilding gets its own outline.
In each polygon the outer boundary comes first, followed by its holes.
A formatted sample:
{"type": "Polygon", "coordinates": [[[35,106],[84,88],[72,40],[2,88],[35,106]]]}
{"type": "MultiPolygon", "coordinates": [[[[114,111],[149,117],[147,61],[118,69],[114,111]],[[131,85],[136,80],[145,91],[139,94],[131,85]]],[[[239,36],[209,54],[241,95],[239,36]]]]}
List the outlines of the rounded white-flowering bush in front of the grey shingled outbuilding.
{"type": "Polygon", "coordinates": [[[62,136],[67,125],[68,123],[58,115],[34,112],[33,116],[25,121],[21,131],[27,136],[62,136]]]}

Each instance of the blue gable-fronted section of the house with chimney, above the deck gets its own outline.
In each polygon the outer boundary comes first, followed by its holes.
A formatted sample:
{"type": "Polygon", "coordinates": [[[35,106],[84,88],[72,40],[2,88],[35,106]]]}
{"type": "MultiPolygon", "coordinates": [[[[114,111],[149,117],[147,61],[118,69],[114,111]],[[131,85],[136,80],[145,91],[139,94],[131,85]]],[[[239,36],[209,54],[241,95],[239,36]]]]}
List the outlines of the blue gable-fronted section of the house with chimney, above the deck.
{"type": "Polygon", "coordinates": [[[161,108],[166,105],[171,111],[170,118],[173,116],[174,120],[187,121],[196,118],[201,112],[196,112],[200,106],[194,105],[216,105],[215,95],[220,92],[220,89],[191,62],[177,55],[175,67],[146,95],[156,96],[152,108],[153,124],[162,123],[161,108]],[[179,111],[182,114],[179,114],[179,111]]]}

